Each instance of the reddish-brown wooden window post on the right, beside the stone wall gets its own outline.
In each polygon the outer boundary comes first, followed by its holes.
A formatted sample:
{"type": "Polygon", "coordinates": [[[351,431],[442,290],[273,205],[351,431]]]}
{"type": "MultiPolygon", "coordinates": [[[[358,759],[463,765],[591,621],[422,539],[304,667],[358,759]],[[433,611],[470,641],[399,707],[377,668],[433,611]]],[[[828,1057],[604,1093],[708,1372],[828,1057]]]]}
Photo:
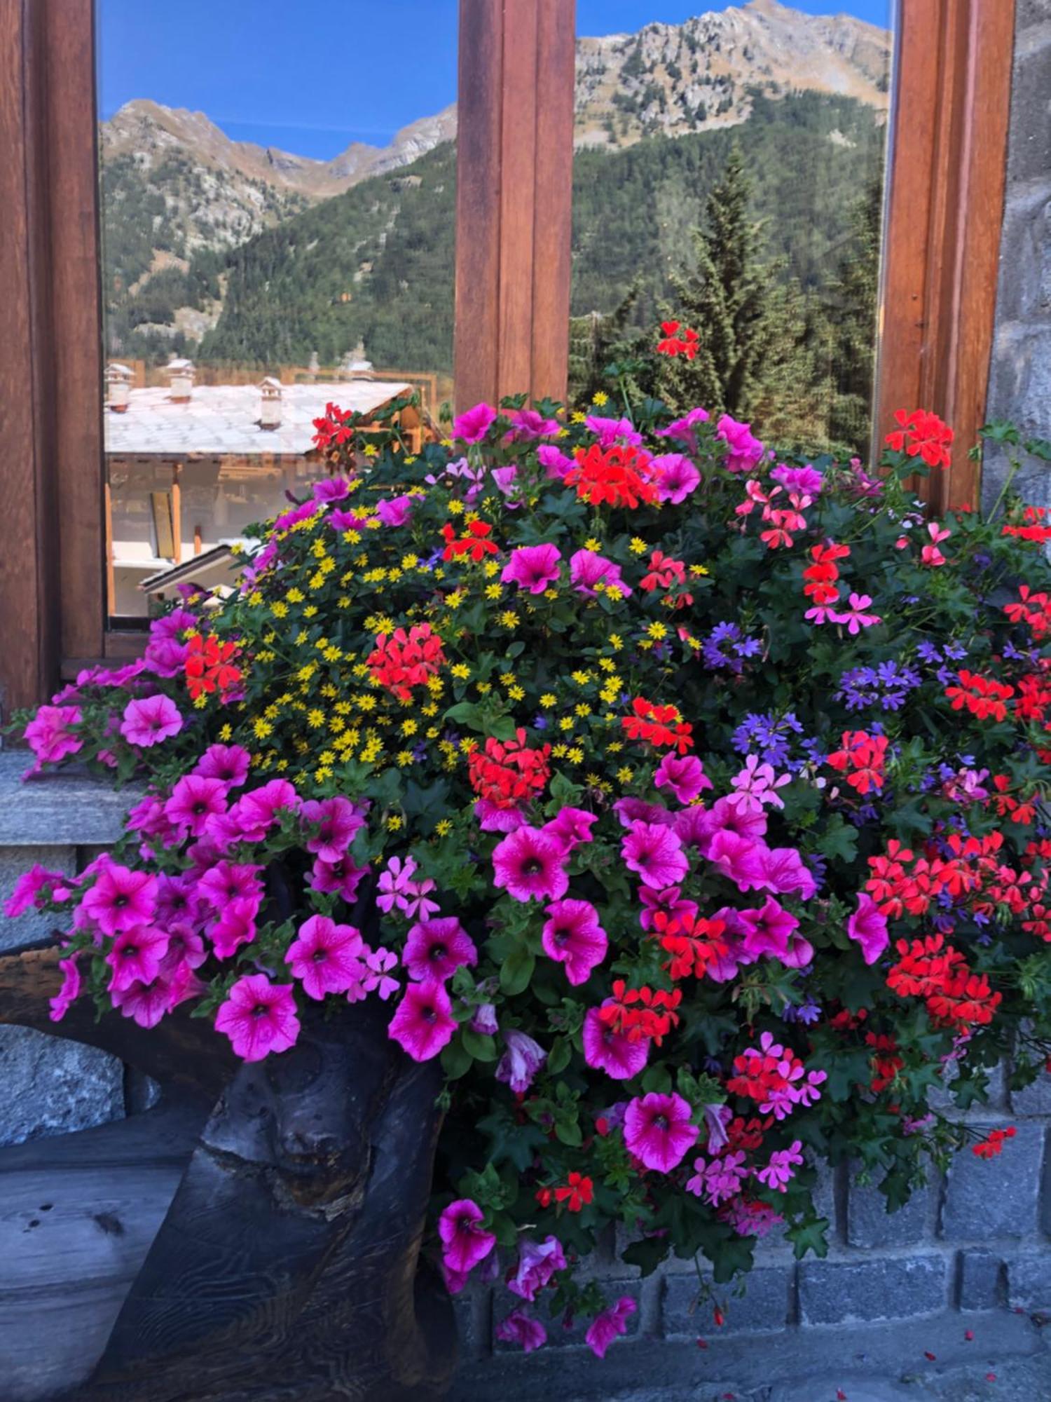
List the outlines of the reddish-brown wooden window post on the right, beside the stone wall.
{"type": "Polygon", "coordinates": [[[890,163],[876,444],[897,408],[956,432],[922,484],[935,510],[978,505],[1013,52],[1013,6],[904,0],[890,163]]]}

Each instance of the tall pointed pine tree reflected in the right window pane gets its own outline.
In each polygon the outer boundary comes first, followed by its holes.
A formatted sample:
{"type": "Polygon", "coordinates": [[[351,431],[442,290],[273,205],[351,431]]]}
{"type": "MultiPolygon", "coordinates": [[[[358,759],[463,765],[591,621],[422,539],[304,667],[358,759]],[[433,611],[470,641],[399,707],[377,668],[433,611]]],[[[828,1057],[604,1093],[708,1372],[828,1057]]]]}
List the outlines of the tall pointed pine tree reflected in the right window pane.
{"type": "Polygon", "coordinates": [[[737,146],[692,231],[696,268],[673,275],[677,317],[699,334],[694,360],[668,360],[659,393],[674,409],[702,404],[779,440],[813,435],[814,365],[799,285],[764,258],[750,213],[751,182],[737,146]]]}

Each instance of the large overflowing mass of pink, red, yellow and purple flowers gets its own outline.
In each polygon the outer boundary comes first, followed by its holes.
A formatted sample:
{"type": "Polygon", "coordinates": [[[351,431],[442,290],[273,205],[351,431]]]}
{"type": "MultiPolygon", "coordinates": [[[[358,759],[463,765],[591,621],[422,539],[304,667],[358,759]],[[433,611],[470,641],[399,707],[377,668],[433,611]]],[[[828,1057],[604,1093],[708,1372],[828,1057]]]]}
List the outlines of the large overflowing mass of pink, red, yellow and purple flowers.
{"type": "Polygon", "coordinates": [[[7,907],[62,931],[56,1021],[191,1011],[259,1061],[381,1009],[444,1081],[450,1290],[502,1279],[500,1339],[561,1311],[600,1357],[635,1309],[576,1270],[610,1224],[720,1284],[769,1232],[821,1251],[823,1161],[900,1203],[1010,1155],[928,1094],[1051,1053],[1051,526],[929,520],[923,411],[879,475],[617,414],[478,405],[412,457],[329,405],[332,475],[240,587],[21,716],[31,773],[143,789],[7,907]]]}

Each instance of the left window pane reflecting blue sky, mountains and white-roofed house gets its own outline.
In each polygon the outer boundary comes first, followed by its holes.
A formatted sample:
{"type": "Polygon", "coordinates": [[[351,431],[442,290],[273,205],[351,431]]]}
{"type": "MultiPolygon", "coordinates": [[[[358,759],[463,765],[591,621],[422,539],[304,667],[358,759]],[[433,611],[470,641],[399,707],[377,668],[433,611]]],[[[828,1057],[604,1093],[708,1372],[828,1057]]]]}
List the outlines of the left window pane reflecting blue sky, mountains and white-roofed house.
{"type": "Polygon", "coordinates": [[[329,401],[369,418],[416,391],[406,444],[437,430],[455,18],[457,0],[99,0],[111,614],[228,585],[228,547],[317,478],[329,401]],[[367,83],[332,80],[334,43],[367,55],[367,83]]]}

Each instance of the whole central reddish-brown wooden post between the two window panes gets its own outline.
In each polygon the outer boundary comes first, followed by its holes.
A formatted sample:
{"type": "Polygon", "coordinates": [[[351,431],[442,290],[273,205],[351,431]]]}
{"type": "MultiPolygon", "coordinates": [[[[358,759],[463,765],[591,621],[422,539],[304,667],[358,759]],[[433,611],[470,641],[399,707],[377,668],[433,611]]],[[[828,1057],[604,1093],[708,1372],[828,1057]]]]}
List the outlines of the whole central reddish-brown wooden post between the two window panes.
{"type": "Polygon", "coordinates": [[[563,400],[575,0],[461,0],[455,400],[563,400]]]}

